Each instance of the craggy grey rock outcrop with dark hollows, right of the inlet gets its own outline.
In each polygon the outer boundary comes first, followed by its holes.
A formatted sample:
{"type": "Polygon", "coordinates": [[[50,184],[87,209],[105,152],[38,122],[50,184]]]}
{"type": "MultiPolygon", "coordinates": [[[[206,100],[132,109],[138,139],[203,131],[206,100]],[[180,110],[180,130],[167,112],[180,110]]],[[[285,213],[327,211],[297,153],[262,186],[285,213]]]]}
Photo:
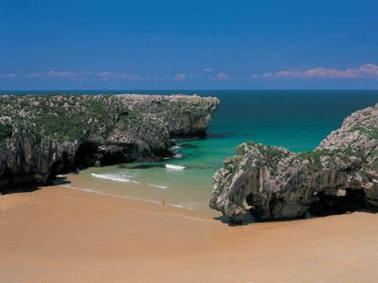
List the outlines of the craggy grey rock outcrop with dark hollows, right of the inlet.
{"type": "Polygon", "coordinates": [[[247,142],[214,174],[210,207],[232,222],[378,206],[378,104],[354,112],[314,151],[247,142]]]}

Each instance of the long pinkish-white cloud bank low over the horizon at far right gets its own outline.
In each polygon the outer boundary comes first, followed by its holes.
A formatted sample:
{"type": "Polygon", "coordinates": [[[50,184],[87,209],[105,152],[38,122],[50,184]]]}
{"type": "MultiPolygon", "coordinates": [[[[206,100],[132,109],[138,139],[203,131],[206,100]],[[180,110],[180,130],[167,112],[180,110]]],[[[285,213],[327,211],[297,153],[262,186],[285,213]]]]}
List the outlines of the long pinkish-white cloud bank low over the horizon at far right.
{"type": "Polygon", "coordinates": [[[307,70],[290,69],[276,73],[264,73],[259,76],[252,75],[252,78],[332,78],[332,79],[353,79],[353,78],[375,78],[378,79],[378,65],[366,63],[356,68],[334,69],[334,68],[312,68],[307,70]]]}

